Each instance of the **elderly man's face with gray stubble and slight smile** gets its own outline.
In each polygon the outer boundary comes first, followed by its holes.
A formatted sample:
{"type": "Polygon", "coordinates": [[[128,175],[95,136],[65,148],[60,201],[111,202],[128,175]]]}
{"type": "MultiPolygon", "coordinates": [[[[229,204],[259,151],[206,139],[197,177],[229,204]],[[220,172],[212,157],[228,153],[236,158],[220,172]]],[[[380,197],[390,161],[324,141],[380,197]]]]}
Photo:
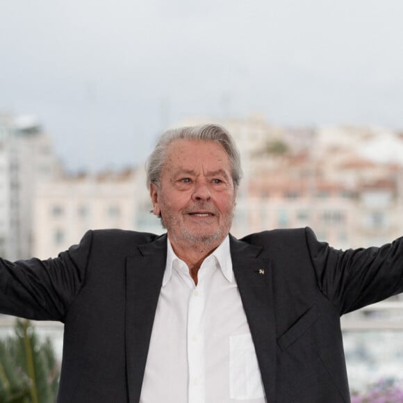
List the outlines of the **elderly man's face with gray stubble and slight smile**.
{"type": "Polygon", "coordinates": [[[172,142],[160,184],[151,183],[150,195],[174,247],[204,242],[214,249],[229,233],[235,206],[227,153],[213,141],[172,142]]]}

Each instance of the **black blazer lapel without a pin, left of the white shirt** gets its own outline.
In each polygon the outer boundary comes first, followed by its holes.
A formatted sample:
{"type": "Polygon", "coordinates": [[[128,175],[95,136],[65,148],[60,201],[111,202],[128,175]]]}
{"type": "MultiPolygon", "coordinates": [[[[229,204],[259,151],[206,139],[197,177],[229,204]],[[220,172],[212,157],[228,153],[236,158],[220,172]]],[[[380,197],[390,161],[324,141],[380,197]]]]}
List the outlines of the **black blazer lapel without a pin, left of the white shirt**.
{"type": "Polygon", "coordinates": [[[126,371],[129,402],[138,403],[167,258],[167,236],[138,246],[126,260],[126,371]]]}

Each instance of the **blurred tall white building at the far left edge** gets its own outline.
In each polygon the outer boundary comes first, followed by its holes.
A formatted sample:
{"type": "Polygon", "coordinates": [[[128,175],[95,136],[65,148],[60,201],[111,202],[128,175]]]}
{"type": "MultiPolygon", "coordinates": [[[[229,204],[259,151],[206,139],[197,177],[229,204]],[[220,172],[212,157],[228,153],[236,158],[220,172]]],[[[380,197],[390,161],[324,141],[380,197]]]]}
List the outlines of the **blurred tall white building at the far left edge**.
{"type": "Polygon", "coordinates": [[[58,174],[51,139],[34,117],[0,115],[0,253],[32,253],[35,186],[58,174]]]}

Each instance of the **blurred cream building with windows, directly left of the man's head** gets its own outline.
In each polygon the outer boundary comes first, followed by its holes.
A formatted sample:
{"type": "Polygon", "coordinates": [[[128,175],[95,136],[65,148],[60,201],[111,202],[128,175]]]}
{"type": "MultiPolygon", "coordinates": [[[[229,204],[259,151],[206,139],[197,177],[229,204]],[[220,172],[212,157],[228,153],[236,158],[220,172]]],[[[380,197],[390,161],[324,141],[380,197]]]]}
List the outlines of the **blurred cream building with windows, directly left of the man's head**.
{"type": "Polygon", "coordinates": [[[133,229],[161,233],[150,213],[143,170],[60,176],[35,192],[33,255],[55,257],[88,229],[133,229]]]}

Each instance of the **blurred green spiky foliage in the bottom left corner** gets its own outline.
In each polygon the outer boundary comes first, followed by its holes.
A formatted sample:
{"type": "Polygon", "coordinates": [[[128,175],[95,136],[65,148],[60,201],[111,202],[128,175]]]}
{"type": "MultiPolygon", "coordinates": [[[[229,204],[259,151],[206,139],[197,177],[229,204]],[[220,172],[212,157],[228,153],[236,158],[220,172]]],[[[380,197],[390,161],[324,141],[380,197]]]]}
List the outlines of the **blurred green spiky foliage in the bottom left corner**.
{"type": "Polygon", "coordinates": [[[41,343],[31,322],[17,319],[15,336],[0,340],[0,402],[55,402],[58,376],[50,341],[41,343]]]}

